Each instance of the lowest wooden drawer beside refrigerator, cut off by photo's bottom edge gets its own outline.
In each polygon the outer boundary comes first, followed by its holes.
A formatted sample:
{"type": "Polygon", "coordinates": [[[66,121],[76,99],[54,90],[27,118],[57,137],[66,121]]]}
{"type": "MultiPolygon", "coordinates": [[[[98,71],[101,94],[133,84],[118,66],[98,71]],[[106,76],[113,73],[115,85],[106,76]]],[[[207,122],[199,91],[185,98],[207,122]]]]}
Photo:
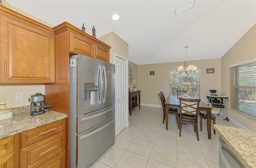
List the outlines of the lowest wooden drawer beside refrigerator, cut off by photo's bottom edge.
{"type": "Polygon", "coordinates": [[[66,150],[38,168],[65,168],[66,167],[66,150]]]}

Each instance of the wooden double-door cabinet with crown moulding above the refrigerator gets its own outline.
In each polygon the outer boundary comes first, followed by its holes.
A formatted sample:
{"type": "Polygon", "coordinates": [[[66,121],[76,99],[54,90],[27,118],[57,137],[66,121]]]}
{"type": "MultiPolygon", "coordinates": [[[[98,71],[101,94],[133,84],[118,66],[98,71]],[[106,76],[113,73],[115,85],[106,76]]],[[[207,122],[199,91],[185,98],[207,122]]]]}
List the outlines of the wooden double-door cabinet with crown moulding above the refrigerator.
{"type": "Polygon", "coordinates": [[[110,61],[110,46],[74,27],[70,23],[64,22],[57,25],[53,28],[53,31],[56,39],[56,50],[58,48],[63,49],[64,46],[69,45],[66,53],[81,54],[106,62],[110,61]]]}

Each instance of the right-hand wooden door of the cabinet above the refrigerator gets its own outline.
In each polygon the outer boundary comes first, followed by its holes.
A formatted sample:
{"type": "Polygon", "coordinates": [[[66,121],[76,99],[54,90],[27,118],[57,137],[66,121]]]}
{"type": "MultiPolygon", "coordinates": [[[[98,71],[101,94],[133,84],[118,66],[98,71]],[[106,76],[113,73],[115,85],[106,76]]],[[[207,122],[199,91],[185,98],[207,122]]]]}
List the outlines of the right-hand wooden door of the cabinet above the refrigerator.
{"type": "Polygon", "coordinates": [[[108,48],[98,44],[98,43],[95,43],[94,44],[94,58],[95,59],[99,59],[99,60],[102,60],[102,61],[106,61],[106,62],[110,62],[110,55],[109,55],[109,50],[108,48]]]}

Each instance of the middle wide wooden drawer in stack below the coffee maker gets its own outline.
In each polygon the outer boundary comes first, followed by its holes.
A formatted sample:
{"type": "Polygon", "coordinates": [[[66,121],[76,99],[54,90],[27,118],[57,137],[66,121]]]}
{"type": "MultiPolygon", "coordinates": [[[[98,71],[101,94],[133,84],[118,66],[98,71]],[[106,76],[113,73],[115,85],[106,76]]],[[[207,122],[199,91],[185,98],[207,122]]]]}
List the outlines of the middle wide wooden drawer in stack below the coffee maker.
{"type": "Polygon", "coordinates": [[[38,167],[66,150],[66,130],[22,148],[21,167],[38,167]]]}

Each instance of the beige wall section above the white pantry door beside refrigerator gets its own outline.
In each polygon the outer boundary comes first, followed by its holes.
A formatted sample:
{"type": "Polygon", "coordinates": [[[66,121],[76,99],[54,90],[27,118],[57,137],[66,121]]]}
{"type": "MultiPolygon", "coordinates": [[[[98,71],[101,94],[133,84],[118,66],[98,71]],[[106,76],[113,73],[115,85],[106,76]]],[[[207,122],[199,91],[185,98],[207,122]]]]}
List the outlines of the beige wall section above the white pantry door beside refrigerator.
{"type": "Polygon", "coordinates": [[[126,43],[123,39],[121,39],[116,33],[111,31],[110,33],[103,35],[98,38],[103,43],[111,46],[110,49],[110,63],[115,63],[115,56],[114,53],[121,55],[129,59],[129,52],[128,52],[128,43],[126,43]]]}

